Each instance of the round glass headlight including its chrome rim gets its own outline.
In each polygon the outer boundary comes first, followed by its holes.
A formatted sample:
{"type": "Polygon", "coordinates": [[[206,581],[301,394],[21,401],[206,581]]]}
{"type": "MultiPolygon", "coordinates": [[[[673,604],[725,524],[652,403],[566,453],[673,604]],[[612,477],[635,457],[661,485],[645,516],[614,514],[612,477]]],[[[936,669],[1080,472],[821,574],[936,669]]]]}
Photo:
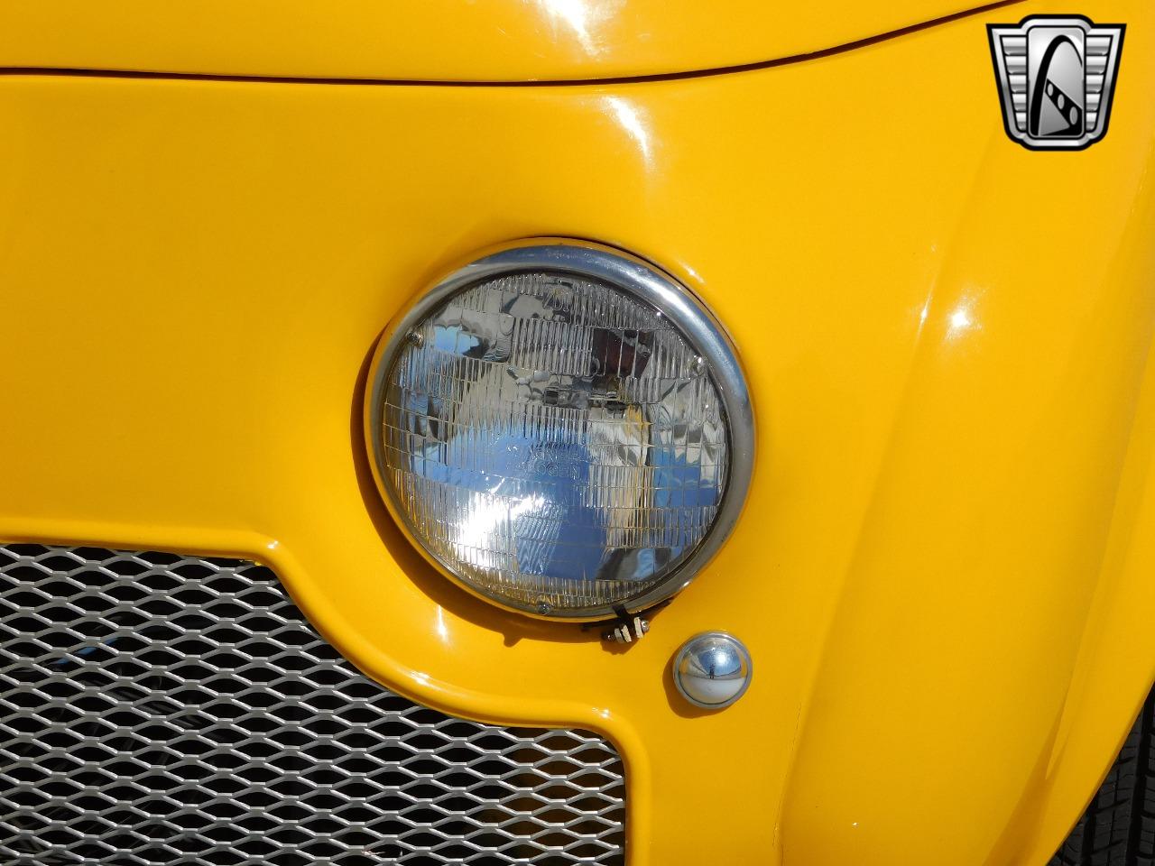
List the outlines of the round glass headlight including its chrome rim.
{"type": "Polygon", "coordinates": [[[394,517],[505,607],[604,619],[678,591],[737,520],[742,369],[644,262],[541,242],[452,274],[386,334],[368,438],[394,517]]]}

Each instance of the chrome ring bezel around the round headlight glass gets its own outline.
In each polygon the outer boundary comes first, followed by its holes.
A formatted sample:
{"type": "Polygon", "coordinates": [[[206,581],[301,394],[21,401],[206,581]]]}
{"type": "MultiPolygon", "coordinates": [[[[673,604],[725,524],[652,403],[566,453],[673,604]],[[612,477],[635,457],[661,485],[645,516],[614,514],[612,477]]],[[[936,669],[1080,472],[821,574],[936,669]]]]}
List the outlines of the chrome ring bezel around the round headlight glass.
{"type": "Polygon", "coordinates": [[[690,290],[641,259],[598,244],[561,239],[527,240],[500,248],[452,271],[417,296],[393,320],[374,352],[366,388],[365,433],[378,491],[394,521],[417,551],[471,595],[508,611],[552,621],[590,622],[636,613],[649,610],[685,589],[714,558],[738,522],[750,491],[754,464],[754,417],[750,391],[737,352],[710,311],[690,290]],[[549,613],[542,613],[531,605],[491,595],[471,585],[454,572],[453,563],[425,546],[408,510],[396,501],[392,486],[385,480],[386,457],[381,435],[385,395],[388,374],[409,335],[464,289],[494,277],[529,271],[569,274],[608,283],[660,311],[705,359],[725,413],[729,466],[710,531],[656,585],[623,604],[606,605],[604,610],[553,609],[549,613]]]}

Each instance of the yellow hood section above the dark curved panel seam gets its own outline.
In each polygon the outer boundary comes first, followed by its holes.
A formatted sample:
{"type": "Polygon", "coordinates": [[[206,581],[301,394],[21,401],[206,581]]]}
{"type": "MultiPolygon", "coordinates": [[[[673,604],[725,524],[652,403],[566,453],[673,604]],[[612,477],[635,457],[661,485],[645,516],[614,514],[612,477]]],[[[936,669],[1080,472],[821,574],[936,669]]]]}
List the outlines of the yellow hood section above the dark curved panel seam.
{"type": "Polygon", "coordinates": [[[7,0],[0,66],[557,81],[819,51],[982,0],[7,0]]]}

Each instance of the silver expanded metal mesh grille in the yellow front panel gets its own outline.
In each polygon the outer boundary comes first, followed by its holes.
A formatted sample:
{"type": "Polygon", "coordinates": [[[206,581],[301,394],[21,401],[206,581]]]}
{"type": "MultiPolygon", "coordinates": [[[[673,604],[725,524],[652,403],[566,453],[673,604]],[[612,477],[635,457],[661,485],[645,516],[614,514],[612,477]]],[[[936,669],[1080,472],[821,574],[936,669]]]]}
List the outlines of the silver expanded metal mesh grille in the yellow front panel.
{"type": "Polygon", "coordinates": [[[0,546],[6,866],[620,864],[621,763],[357,673],[266,568],[0,546]]]}

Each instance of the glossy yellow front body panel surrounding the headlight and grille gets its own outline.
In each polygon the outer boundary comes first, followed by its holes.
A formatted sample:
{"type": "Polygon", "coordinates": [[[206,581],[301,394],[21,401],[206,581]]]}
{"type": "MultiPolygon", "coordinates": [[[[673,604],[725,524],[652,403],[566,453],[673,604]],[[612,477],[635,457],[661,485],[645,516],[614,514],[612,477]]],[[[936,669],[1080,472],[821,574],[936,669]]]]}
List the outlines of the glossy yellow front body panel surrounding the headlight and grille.
{"type": "Polygon", "coordinates": [[[611,736],[634,866],[1042,864],[1155,674],[1155,9],[1111,128],[1003,132],[984,24],[580,87],[0,79],[0,537],[252,557],[416,700],[611,736]],[[433,572],[370,476],[374,342],[516,238],[729,327],[746,512],[608,648],[433,572]],[[758,670],[690,710],[677,647],[758,670]],[[709,820],[702,820],[709,816],[709,820]]]}

